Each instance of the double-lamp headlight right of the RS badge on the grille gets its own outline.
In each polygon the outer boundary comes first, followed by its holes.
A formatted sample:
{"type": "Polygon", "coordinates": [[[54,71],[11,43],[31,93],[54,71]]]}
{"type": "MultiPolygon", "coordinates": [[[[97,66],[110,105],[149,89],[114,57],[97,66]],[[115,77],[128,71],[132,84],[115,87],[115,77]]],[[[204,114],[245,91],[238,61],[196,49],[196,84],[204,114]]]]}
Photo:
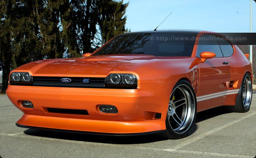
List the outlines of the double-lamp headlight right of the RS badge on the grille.
{"type": "Polygon", "coordinates": [[[106,88],[136,89],[137,77],[133,74],[109,74],[105,78],[106,88]]]}

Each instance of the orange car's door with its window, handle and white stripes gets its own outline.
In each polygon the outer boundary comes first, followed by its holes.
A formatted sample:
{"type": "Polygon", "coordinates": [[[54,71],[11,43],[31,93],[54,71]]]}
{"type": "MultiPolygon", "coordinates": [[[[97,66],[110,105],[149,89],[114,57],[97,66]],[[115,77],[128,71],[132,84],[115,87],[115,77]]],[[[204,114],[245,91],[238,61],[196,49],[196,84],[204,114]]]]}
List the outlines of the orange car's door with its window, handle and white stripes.
{"type": "Polygon", "coordinates": [[[210,101],[208,103],[222,104],[228,89],[220,88],[221,84],[230,81],[230,65],[223,57],[220,46],[215,35],[203,35],[200,38],[197,48],[197,57],[202,52],[213,52],[214,58],[207,59],[204,63],[199,63],[199,93],[198,102],[210,101]]]}

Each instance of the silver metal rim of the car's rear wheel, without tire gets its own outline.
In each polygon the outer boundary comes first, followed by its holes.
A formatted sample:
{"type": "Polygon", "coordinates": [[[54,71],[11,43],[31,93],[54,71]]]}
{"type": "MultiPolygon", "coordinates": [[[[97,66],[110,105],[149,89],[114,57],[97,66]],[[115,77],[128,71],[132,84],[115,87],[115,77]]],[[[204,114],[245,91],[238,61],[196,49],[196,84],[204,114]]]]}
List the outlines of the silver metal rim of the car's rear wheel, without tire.
{"type": "Polygon", "coordinates": [[[246,76],[244,79],[242,97],[244,107],[246,109],[249,108],[252,99],[252,82],[249,76],[246,76]]]}

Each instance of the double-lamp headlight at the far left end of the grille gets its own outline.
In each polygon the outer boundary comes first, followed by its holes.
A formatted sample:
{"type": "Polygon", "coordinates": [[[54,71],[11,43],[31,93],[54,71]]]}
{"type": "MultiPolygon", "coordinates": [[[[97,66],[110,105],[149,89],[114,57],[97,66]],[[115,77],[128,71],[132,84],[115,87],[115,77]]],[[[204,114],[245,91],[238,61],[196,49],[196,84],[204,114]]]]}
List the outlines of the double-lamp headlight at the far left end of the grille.
{"type": "Polygon", "coordinates": [[[28,72],[13,72],[10,74],[10,85],[32,85],[33,77],[28,72]]]}

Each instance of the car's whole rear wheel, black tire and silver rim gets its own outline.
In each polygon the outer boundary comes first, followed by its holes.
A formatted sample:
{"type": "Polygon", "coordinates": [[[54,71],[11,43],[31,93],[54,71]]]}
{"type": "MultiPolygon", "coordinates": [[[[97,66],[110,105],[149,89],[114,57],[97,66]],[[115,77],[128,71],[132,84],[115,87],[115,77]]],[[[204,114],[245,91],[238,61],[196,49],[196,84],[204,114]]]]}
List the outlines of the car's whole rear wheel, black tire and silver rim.
{"type": "Polygon", "coordinates": [[[228,112],[247,112],[250,110],[252,101],[252,80],[249,73],[244,75],[239,92],[236,97],[236,104],[223,106],[228,112]]]}

